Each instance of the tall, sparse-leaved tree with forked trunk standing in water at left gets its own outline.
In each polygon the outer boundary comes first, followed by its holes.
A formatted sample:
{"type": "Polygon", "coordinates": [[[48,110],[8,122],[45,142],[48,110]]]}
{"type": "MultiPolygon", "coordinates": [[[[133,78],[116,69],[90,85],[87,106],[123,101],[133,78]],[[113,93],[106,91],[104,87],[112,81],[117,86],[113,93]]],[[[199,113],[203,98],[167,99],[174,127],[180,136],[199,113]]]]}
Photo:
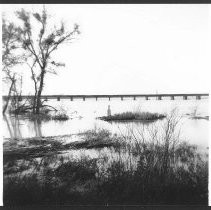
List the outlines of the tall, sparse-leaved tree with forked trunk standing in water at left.
{"type": "Polygon", "coordinates": [[[76,34],[79,34],[79,26],[75,24],[72,30],[66,30],[64,24],[61,22],[59,27],[54,27],[53,30],[49,30],[49,16],[45,8],[43,8],[41,13],[30,13],[22,9],[16,12],[16,14],[23,23],[22,27],[19,28],[22,47],[32,59],[30,70],[35,89],[33,111],[39,114],[42,105],[41,95],[46,74],[56,74],[54,68],[64,66],[64,64],[60,62],[54,61],[52,54],[62,44],[70,42],[74,39],[76,34]],[[37,36],[32,29],[32,17],[39,24],[39,33],[37,36]],[[37,72],[35,69],[39,69],[39,71],[37,72]]]}

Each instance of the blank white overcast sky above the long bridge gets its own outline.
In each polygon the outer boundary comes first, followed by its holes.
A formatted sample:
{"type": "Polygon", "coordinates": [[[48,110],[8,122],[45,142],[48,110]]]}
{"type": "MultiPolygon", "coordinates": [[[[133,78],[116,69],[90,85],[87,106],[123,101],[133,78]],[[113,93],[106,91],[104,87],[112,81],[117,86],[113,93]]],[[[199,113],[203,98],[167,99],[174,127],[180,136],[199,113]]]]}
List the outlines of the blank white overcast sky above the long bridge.
{"type": "MultiPolygon", "coordinates": [[[[6,17],[42,5],[2,5],[6,17]]],[[[43,94],[208,92],[209,5],[46,5],[81,35],[56,53],[66,67],[48,75],[43,94]]],[[[22,67],[25,68],[25,67],[22,67]]],[[[24,93],[33,83],[25,70],[24,93]]]]}

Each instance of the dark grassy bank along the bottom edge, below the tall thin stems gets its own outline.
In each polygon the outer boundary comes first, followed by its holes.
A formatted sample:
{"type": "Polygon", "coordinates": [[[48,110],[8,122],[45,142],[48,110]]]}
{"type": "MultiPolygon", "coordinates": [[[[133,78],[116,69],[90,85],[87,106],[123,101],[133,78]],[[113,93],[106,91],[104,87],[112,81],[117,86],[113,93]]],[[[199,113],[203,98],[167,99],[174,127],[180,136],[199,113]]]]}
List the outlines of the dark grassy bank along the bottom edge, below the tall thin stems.
{"type": "Polygon", "coordinates": [[[177,155],[181,165],[169,165],[165,170],[162,161],[155,163],[158,156],[153,149],[139,157],[135,170],[127,169],[121,159],[99,170],[99,159],[88,157],[66,161],[57,157],[52,168],[55,160],[45,157],[36,173],[18,175],[26,165],[19,166],[16,175],[4,170],[4,204],[207,205],[208,163],[187,145],[180,145],[177,155]]]}

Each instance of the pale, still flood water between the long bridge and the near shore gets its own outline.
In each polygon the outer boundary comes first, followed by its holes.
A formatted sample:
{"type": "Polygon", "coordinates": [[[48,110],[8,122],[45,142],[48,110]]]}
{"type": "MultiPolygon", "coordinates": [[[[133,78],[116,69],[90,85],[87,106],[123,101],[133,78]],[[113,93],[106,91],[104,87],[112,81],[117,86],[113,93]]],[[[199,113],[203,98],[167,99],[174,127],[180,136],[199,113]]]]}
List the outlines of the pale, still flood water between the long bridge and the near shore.
{"type": "MultiPolygon", "coordinates": [[[[107,115],[108,105],[111,107],[111,114],[125,111],[148,111],[169,114],[172,109],[177,108],[178,115],[181,116],[180,128],[181,138],[191,144],[196,144],[202,149],[208,147],[209,120],[193,119],[193,113],[197,116],[209,116],[208,99],[196,100],[144,100],[131,98],[121,99],[77,99],[70,101],[61,99],[60,101],[48,100],[47,104],[62,109],[67,112],[70,119],[67,121],[31,121],[21,116],[8,116],[3,120],[4,138],[27,138],[69,135],[84,132],[88,129],[105,128],[112,133],[124,133],[128,126],[138,127],[140,122],[130,123],[109,123],[96,119],[107,115]]],[[[152,122],[158,124],[161,120],[152,122]],[[159,121],[159,122],[158,122],[159,121]]]]}

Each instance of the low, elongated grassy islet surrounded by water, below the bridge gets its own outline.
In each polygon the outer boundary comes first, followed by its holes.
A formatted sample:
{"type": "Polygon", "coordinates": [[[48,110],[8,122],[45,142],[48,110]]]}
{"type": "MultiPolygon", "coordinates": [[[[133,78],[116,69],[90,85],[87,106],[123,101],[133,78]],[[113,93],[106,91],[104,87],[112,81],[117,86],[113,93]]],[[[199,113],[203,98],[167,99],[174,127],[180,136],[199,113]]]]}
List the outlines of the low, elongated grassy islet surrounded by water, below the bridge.
{"type": "Polygon", "coordinates": [[[163,114],[150,112],[123,112],[121,114],[99,117],[99,119],[105,121],[153,121],[163,119],[165,117],[166,116],[163,114]]]}

